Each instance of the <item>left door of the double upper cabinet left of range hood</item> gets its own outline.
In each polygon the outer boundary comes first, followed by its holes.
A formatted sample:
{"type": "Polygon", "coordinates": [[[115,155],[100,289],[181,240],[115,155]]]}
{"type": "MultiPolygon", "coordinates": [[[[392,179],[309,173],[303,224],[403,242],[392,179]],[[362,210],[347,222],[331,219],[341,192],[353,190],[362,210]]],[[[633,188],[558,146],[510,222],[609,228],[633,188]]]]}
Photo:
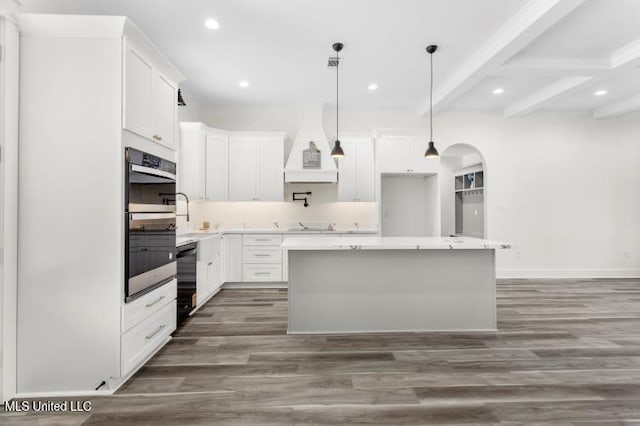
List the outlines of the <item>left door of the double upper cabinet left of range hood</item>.
{"type": "Polygon", "coordinates": [[[229,201],[257,198],[257,157],[254,140],[229,139],[229,201]]]}

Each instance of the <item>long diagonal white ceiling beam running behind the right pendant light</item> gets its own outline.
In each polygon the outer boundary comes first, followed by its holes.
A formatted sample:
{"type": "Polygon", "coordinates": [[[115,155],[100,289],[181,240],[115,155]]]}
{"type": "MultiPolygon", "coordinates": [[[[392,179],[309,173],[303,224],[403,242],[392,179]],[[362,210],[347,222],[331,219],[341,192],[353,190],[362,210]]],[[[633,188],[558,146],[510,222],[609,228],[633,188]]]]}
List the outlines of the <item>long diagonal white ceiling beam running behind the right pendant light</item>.
{"type": "MultiPolygon", "coordinates": [[[[580,6],[584,0],[531,0],[505,22],[451,77],[433,93],[434,110],[445,107],[491,74],[509,58],[544,34],[559,20],[580,6]]],[[[429,99],[417,108],[424,116],[429,112],[429,99]]]]}

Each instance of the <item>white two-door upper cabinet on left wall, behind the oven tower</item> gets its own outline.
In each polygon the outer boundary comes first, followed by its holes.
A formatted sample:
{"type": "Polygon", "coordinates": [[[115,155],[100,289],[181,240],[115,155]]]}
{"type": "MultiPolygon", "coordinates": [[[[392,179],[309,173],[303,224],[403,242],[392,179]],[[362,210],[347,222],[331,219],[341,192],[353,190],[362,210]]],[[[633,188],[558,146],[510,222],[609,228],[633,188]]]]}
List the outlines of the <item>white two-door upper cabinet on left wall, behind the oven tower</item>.
{"type": "Polygon", "coordinates": [[[228,200],[227,143],[227,132],[180,123],[178,191],[192,200],[228,200]]]}

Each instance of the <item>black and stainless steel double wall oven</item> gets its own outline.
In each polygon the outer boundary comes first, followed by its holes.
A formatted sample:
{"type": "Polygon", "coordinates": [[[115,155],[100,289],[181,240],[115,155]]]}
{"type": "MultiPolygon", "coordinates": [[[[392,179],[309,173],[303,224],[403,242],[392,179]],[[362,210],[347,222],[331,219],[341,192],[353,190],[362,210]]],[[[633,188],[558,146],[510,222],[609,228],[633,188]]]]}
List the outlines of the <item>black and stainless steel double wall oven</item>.
{"type": "Polygon", "coordinates": [[[125,302],[176,276],[175,191],[174,162],[126,148],[125,302]]]}

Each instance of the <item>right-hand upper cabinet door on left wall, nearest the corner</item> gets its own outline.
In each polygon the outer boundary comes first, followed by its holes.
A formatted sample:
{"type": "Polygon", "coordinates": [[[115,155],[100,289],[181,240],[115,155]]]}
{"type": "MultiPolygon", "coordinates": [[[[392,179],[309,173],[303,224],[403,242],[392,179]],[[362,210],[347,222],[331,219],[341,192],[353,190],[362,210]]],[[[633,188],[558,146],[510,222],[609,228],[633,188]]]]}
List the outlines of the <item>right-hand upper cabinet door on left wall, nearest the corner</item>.
{"type": "Polygon", "coordinates": [[[211,201],[227,201],[228,185],[227,136],[213,129],[207,130],[206,198],[211,201]]]}

